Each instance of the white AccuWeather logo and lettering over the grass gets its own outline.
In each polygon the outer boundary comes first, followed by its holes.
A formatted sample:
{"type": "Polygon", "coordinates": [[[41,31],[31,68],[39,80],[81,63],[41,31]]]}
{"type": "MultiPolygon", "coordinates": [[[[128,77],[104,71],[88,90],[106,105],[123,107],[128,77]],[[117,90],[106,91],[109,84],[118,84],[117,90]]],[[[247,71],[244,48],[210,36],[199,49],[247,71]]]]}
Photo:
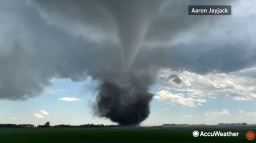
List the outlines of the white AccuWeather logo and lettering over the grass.
{"type": "Polygon", "coordinates": [[[199,132],[194,131],[193,136],[238,136],[239,132],[221,132],[221,131],[214,131],[214,132],[199,132]]]}

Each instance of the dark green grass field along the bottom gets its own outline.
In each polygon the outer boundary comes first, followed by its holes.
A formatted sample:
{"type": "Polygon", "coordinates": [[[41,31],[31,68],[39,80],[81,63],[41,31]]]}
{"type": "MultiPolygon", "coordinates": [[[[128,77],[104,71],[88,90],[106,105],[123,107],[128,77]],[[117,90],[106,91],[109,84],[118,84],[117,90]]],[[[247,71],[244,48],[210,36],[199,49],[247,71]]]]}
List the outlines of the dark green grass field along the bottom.
{"type": "Polygon", "coordinates": [[[88,128],[37,129],[0,128],[0,142],[253,142],[246,139],[254,127],[170,127],[170,128],[88,128]],[[238,137],[194,137],[193,131],[239,132],[238,137]]]}

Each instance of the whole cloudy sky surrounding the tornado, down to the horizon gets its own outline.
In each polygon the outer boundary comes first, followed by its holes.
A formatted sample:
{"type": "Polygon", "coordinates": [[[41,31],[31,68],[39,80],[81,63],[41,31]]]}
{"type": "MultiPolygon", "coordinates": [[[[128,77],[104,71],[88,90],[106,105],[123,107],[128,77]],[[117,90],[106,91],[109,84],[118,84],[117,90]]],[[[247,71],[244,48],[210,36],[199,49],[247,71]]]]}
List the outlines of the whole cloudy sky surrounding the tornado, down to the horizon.
{"type": "MultiPolygon", "coordinates": [[[[59,2],[0,1],[0,123],[115,125],[94,116],[92,105],[102,72],[120,61],[123,21],[116,28],[114,14],[92,1],[59,2]]],[[[134,20],[147,24],[134,67],[157,71],[141,125],[254,124],[256,2],[157,6],[150,21],[134,20]],[[232,15],[188,16],[188,5],[231,5],[232,15]]]]}

